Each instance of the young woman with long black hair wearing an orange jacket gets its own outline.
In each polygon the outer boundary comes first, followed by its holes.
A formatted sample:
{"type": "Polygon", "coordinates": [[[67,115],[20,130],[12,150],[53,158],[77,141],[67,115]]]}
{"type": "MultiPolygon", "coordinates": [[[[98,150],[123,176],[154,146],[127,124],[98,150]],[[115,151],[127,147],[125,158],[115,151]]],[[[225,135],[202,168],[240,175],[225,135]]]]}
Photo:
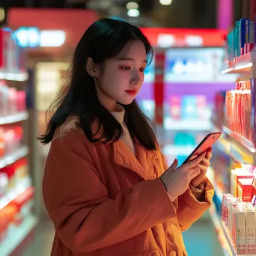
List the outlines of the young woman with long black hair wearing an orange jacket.
{"type": "Polygon", "coordinates": [[[101,19],[82,36],[55,101],[43,198],[52,256],[186,255],[181,232],[210,207],[211,150],[168,168],[135,97],[153,55],[134,25],[101,19]]]}

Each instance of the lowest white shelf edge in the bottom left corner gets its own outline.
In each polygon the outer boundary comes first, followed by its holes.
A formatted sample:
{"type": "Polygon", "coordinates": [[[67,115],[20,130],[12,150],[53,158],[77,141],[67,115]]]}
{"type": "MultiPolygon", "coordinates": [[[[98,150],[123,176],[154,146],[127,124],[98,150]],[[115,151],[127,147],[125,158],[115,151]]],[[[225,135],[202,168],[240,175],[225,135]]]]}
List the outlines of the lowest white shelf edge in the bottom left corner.
{"type": "Polygon", "coordinates": [[[13,228],[11,235],[0,244],[0,255],[10,255],[21,243],[28,237],[37,225],[37,219],[34,216],[28,216],[19,227],[13,228]]]}

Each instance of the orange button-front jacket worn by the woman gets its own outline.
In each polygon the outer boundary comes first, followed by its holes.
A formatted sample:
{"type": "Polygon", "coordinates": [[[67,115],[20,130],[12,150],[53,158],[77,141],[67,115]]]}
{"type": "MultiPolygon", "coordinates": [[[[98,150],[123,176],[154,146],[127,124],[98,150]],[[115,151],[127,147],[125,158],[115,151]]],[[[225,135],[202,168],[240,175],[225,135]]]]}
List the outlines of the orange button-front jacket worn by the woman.
{"type": "Polygon", "coordinates": [[[91,143],[78,129],[55,136],[46,161],[43,198],[55,225],[52,256],[183,256],[181,231],[210,207],[188,189],[171,202],[159,177],[159,150],[122,141],[91,143]]]}

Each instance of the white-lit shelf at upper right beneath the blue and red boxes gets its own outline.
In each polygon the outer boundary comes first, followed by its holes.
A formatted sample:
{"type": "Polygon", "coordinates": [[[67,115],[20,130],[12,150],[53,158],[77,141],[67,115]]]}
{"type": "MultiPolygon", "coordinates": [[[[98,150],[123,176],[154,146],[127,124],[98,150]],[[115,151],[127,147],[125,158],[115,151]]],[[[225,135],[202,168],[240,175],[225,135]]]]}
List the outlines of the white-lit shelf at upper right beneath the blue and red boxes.
{"type": "Polygon", "coordinates": [[[234,61],[227,61],[222,65],[221,73],[250,73],[253,60],[255,60],[255,52],[234,58],[234,61]]]}

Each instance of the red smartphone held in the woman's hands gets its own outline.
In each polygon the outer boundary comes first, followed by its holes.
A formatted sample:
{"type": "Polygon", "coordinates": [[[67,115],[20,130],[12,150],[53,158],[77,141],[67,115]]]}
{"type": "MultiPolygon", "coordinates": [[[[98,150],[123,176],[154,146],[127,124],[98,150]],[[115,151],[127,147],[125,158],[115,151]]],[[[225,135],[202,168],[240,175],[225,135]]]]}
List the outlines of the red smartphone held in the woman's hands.
{"type": "Polygon", "coordinates": [[[222,135],[222,132],[211,132],[204,137],[204,139],[198,144],[198,147],[195,147],[195,150],[186,158],[183,162],[189,162],[193,156],[200,156],[201,153],[204,153],[208,150],[209,147],[212,147],[217,139],[222,135]]]}

